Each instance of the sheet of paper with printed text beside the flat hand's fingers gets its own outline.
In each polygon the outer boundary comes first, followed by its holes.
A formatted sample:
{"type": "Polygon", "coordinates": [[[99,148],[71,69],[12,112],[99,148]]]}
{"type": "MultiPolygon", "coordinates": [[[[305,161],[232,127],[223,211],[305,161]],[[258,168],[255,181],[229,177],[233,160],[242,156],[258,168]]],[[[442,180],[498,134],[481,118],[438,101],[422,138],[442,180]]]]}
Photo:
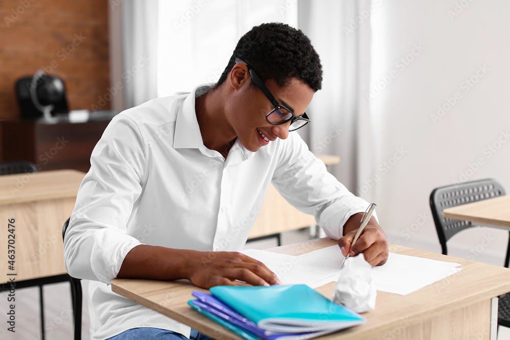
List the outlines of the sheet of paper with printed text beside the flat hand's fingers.
{"type": "Polygon", "coordinates": [[[306,284],[315,289],[338,279],[339,266],[305,261],[298,256],[265,250],[245,249],[241,252],[265,264],[283,284],[306,284]]]}

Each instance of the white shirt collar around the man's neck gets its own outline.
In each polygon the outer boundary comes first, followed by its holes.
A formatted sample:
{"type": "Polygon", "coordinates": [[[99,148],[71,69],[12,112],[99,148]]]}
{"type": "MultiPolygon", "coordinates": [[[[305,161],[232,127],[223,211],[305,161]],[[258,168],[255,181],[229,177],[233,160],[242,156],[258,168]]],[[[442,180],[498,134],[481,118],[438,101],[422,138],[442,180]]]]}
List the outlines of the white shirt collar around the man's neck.
{"type": "MultiPolygon", "coordinates": [[[[221,156],[218,151],[210,150],[203,145],[195,111],[195,98],[209,91],[214,85],[215,83],[199,85],[184,99],[183,105],[179,109],[179,112],[177,112],[177,118],[175,120],[175,134],[173,137],[174,149],[199,149],[200,152],[211,157],[221,156]]],[[[246,149],[239,138],[236,138],[234,145],[228,152],[227,163],[240,163],[252,158],[254,154],[255,152],[246,149]]]]}

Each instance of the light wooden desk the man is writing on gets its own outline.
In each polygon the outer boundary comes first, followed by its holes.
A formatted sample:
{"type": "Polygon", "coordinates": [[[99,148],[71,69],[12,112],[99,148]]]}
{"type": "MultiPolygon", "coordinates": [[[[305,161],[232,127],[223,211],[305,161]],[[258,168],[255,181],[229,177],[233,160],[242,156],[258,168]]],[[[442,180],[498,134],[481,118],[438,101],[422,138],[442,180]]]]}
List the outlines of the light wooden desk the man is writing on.
{"type": "MultiPolygon", "coordinates": [[[[299,255],[336,243],[324,238],[269,250],[299,255]]],[[[317,339],[489,339],[494,310],[492,335],[495,336],[497,305],[494,307],[492,299],[510,291],[510,269],[402,246],[391,245],[390,249],[400,254],[460,263],[463,270],[406,296],[377,292],[375,310],[363,314],[366,324],[317,339]]],[[[328,283],[317,291],[331,298],[334,286],[334,282],[328,283]]],[[[240,339],[188,306],[191,292],[201,289],[187,280],[114,279],[112,290],[216,339],[240,339]]]]}

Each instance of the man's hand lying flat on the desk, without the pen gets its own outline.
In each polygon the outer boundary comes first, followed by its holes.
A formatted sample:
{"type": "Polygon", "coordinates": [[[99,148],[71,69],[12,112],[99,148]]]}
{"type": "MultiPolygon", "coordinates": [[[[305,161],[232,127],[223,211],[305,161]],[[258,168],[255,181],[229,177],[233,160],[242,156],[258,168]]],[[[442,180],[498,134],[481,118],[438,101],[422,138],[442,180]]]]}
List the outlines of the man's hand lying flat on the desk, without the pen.
{"type": "Polygon", "coordinates": [[[209,289],[215,285],[234,285],[236,280],[251,285],[282,284],[266,265],[242,253],[199,251],[196,256],[188,278],[198,287],[209,289]]]}

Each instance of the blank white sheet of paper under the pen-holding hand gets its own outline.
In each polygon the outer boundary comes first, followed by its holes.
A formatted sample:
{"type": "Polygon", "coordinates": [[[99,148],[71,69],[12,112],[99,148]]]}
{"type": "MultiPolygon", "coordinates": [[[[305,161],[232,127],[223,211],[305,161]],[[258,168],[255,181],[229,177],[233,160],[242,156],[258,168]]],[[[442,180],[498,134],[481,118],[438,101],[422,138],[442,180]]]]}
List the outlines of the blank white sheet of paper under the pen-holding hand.
{"type": "MultiPolygon", "coordinates": [[[[340,266],[344,258],[336,245],[296,257],[330,266],[340,266]]],[[[458,263],[390,253],[385,265],[374,268],[375,287],[380,292],[407,295],[460,272],[461,268],[455,268],[458,266],[458,263]]],[[[335,274],[341,275],[341,271],[335,274]]]]}

